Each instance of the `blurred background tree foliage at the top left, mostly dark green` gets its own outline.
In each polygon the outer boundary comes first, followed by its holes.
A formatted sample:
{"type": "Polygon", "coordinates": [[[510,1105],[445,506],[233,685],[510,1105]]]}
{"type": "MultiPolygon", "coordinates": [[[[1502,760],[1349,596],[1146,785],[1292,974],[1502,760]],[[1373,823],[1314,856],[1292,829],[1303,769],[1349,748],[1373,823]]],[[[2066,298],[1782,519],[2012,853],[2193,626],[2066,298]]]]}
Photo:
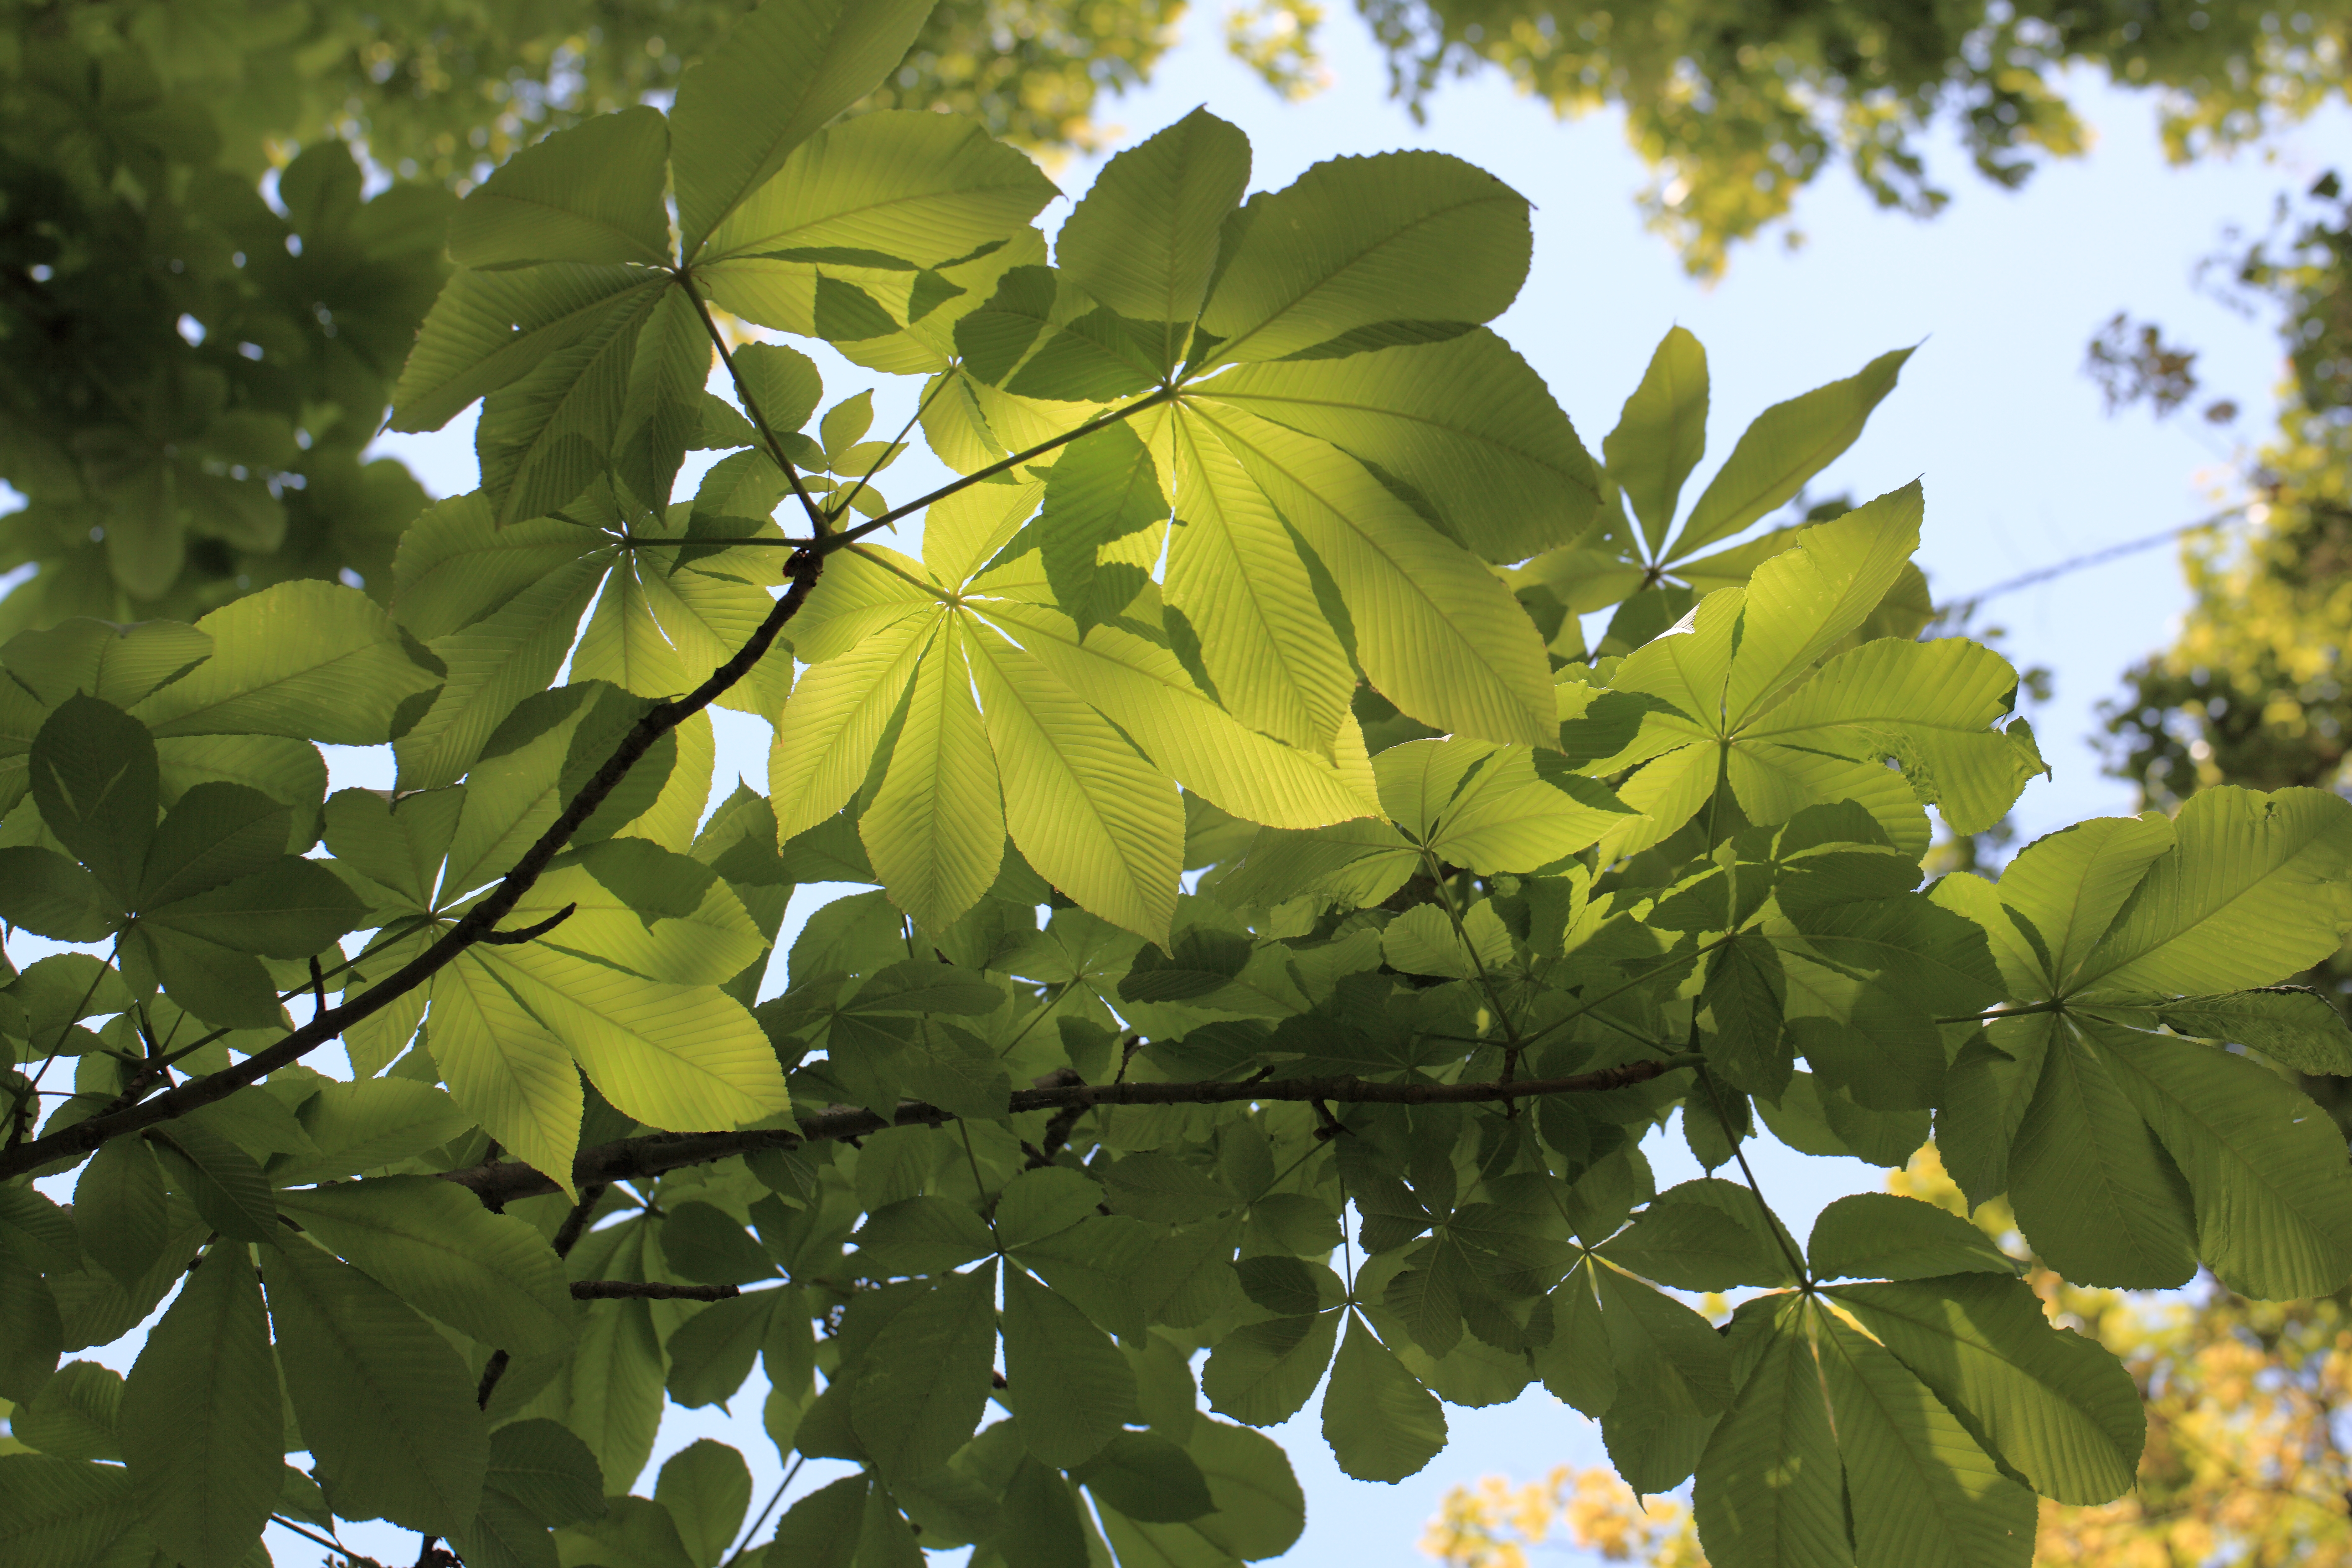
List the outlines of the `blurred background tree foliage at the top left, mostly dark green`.
{"type": "MultiPolygon", "coordinates": [[[[736,0],[14,2],[0,28],[0,635],[388,585],[426,496],[362,463],[454,193],[668,92],[736,0]]],[[[948,0],[868,106],[1084,148],[1176,0],[948,0]]],[[[1263,42],[1263,40],[1261,40],[1263,42]]],[[[1279,80],[1282,52],[1261,49],[1279,80]]]]}

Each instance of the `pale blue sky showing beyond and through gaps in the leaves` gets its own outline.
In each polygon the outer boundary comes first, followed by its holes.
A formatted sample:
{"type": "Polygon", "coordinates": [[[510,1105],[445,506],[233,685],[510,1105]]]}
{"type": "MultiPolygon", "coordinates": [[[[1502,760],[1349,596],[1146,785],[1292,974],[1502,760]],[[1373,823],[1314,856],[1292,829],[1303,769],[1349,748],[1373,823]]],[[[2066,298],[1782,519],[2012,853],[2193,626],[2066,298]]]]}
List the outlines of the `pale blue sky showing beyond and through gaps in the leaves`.
{"type": "MultiPolygon", "coordinates": [[[[1802,249],[1776,240],[1748,247],[1733,256],[1731,275],[1708,289],[1684,277],[1663,240],[1644,233],[1632,197],[1646,174],[1613,115],[1562,125],[1501,82],[1475,80],[1439,92],[1428,122],[1414,125],[1385,99],[1385,66],[1352,14],[1327,28],[1327,49],[1334,85],[1287,106],[1223,56],[1211,16],[1195,16],[1157,85],[1110,103],[1105,118],[1127,129],[1124,146],[1207,103],[1249,132],[1261,188],[1282,186],[1329,155],[1388,148],[1439,148],[1496,172],[1536,207],[1534,275],[1498,329],[1548,378],[1590,447],[1616,421],[1658,336],[1677,322],[1696,331],[1715,374],[1700,482],[1766,404],[1846,376],[1886,348],[1919,343],[1860,444],[1813,491],[1849,489],[1867,498],[1924,480],[1922,564],[1938,599],[2154,534],[2223,501],[2225,437],[2185,416],[2169,423],[2103,416],[2079,367],[2084,341],[2114,310],[2157,317],[2173,336],[2201,346],[2199,371],[2213,390],[2246,404],[2239,430],[2260,430],[2267,416],[2279,376],[2267,322],[2246,322],[2199,296],[2190,268],[2216,247],[2225,223],[2260,223],[2274,190],[2317,174],[2307,160],[2324,143],[2319,132],[2284,143],[2277,165],[2241,158],[2169,169],[2152,103],[2084,82],[2079,101],[2098,129],[2091,158],[2044,169],[2023,193],[2002,193],[1940,141],[1936,167],[1957,200],[1933,223],[1872,207],[1832,172],[1799,197],[1802,249]]],[[[2321,127],[2338,146],[2343,129],[2343,118],[2321,127]]],[[[1091,174],[1080,160],[1056,179],[1077,193],[1091,174]]],[[[1065,212],[1058,202],[1047,223],[1065,212]]],[[[858,371],[821,357],[828,402],[866,386],[858,371]]],[[[903,416],[908,388],[887,390],[877,404],[884,421],[891,409],[903,416]]],[[[386,437],[381,449],[409,458],[437,494],[470,489],[468,425],[386,437]]],[[[894,496],[915,494],[920,465],[910,458],[889,477],[894,496]]],[[[2034,783],[2018,806],[2027,837],[2133,806],[2129,788],[2098,773],[2086,743],[2093,705],[2117,691],[2124,668],[2166,642],[2183,604],[2173,552],[2152,550],[1992,607],[1987,618],[2009,628],[2006,651],[2056,675],[2056,698],[2034,715],[2056,778],[2034,783]]],[[[764,785],[764,750],[762,724],[724,715],[713,799],[724,797],[731,771],[764,785]]],[[[343,752],[336,783],[388,783],[388,766],[343,752]]],[[[804,889],[795,919],[823,896],[804,889]]],[[[1653,1157],[1661,1185],[1696,1175],[1672,1131],[1656,1140],[1653,1157]]],[[[1813,1161],[1785,1150],[1762,1150],[1757,1173],[1799,1234],[1832,1197],[1879,1180],[1856,1161],[1813,1161]]],[[[103,1354],[127,1363],[134,1349],[122,1342],[103,1354]]],[[[734,1403],[743,1420],[673,1413],[656,1462],[694,1436],[722,1436],[753,1460],[764,1497],[779,1467],[757,1427],[760,1389],[748,1387],[734,1403]]],[[[1534,1389],[1510,1406],[1449,1410],[1454,1446],[1421,1476],[1399,1486],[1357,1483],[1331,1465],[1312,1410],[1310,1403],[1308,1415],[1275,1432],[1308,1490],[1308,1535],[1291,1561],[1423,1561],[1414,1542],[1446,1486],[1486,1472],[1526,1479],[1555,1462],[1602,1462],[1597,1429],[1534,1389]]],[[[809,1476],[823,1479],[816,1467],[809,1476]]],[[[649,1488],[652,1472],[640,1481],[640,1490],[649,1488]]],[[[414,1556],[405,1533],[362,1526],[350,1540],[386,1561],[414,1556]]],[[[280,1561],[315,1559],[301,1542],[273,1544],[280,1561]]]]}

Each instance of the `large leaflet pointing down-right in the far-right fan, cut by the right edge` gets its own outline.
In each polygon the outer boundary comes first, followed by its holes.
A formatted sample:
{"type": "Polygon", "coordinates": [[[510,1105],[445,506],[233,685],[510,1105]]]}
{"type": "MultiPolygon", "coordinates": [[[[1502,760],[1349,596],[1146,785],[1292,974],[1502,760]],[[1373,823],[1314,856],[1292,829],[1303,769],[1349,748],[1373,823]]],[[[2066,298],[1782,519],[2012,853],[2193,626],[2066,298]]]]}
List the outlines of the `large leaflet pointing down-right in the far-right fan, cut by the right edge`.
{"type": "Polygon", "coordinates": [[[2343,1133],[2258,1063],[2089,1020],[2107,1072],[2147,1117],[2197,1201],[2197,1255],[2239,1295],[2303,1300],[2352,1274],[2343,1133]]]}

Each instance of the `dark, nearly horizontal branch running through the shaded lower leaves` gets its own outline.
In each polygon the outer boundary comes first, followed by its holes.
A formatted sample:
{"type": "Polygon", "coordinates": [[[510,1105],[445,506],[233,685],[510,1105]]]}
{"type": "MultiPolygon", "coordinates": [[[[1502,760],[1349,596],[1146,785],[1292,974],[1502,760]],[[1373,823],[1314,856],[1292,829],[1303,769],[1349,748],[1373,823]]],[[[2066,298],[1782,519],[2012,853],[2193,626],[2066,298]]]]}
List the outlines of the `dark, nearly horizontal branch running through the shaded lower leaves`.
{"type": "MultiPolygon", "coordinates": [[[[1693,1067],[1696,1056],[1670,1056],[1599,1072],[1578,1072],[1566,1079],[1519,1079],[1517,1084],[1367,1084],[1359,1077],[1327,1079],[1261,1079],[1256,1084],[1058,1084],[1051,1088],[1021,1088],[1011,1095],[1007,1114],[1054,1110],[1080,1114],[1101,1105],[1232,1105],[1247,1100],[1338,1100],[1343,1105],[1477,1105],[1491,1100],[1519,1100],[1538,1095],[1606,1093],[1646,1084],[1677,1067],[1693,1067]]],[[[870,1110],[835,1107],[800,1119],[800,1126],[755,1126],[736,1133],[656,1133],[652,1138],[623,1138],[593,1150],[581,1150],[572,1161],[572,1180],[579,1187],[590,1182],[619,1182],[708,1166],[753,1150],[790,1150],[802,1143],[830,1143],[840,1138],[863,1138],[891,1126],[943,1126],[955,1121],[950,1112],[920,1100],[898,1105],[896,1117],[877,1117],[870,1110]]],[[[520,1161],[496,1161],[447,1171],[442,1180],[473,1190],[485,1204],[513,1204],[515,1199],[557,1192],[557,1185],[520,1161]]]]}

